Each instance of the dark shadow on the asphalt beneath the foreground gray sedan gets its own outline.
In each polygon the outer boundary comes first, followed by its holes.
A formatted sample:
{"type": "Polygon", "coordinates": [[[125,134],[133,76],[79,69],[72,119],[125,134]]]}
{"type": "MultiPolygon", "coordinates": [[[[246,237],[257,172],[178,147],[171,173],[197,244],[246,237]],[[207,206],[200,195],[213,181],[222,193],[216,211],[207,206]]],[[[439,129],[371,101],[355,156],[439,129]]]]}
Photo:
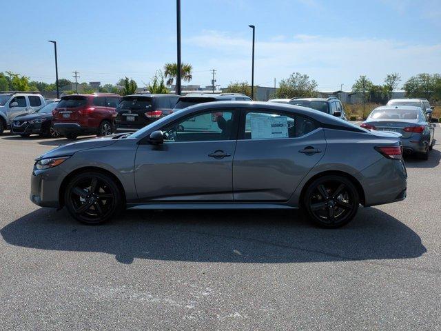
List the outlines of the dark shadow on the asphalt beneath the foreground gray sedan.
{"type": "Polygon", "coordinates": [[[126,211],[105,225],[88,226],[65,210],[40,208],[0,234],[11,245],[104,252],[121,263],[305,263],[409,259],[426,252],[416,232],[376,208],[362,208],[336,230],[316,228],[300,212],[284,210],[126,211]]]}

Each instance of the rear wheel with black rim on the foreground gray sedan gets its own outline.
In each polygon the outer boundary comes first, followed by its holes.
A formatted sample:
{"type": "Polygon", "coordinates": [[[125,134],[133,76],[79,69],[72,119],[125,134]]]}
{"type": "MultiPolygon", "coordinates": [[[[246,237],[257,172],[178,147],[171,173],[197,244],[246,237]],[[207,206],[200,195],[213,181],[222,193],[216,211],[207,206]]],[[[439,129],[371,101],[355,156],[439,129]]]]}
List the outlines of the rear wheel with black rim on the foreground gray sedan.
{"type": "Polygon", "coordinates": [[[349,179],[326,175],[314,180],[302,197],[309,220],[322,228],[340,228],[356,216],[360,197],[349,179]]]}

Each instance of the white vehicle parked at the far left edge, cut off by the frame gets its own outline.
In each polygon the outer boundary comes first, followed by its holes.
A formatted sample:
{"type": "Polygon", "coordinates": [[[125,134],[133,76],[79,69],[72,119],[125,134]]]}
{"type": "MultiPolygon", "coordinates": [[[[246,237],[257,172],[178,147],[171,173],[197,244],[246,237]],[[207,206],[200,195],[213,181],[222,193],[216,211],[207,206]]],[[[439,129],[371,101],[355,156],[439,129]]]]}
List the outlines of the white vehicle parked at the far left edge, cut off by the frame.
{"type": "Polygon", "coordinates": [[[41,94],[32,92],[10,92],[0,94],[0,134],[10,128],[14,117],[30,114],[46,105],[41,94]]]}

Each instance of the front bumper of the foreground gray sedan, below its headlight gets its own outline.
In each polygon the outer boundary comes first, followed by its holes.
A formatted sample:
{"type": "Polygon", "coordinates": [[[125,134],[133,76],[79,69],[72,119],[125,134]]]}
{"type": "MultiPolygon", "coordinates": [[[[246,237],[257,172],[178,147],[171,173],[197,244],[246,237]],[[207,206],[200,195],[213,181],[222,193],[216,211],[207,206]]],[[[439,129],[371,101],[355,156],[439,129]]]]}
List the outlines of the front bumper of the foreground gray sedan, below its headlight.
{"type": "Polygon", "coordinates": [[[34,168],[30,180],[30,201],[41,207],[59,208],[59,191],[66,176],[59,166],[37,170],[34,168]]]}

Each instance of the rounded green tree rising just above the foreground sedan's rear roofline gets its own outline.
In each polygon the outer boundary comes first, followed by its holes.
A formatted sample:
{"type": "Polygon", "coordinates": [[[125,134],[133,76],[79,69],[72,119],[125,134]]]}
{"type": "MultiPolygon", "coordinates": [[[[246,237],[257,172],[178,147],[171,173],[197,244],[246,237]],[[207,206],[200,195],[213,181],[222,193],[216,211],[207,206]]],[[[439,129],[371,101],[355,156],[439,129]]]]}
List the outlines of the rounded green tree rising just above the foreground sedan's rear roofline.
{"type": "Polygon", "coordinates": [[[287,79],[282,79],[276,92],[277,98],[316,97],[317,83],[307,74],[294,72],[287,79]]]}

